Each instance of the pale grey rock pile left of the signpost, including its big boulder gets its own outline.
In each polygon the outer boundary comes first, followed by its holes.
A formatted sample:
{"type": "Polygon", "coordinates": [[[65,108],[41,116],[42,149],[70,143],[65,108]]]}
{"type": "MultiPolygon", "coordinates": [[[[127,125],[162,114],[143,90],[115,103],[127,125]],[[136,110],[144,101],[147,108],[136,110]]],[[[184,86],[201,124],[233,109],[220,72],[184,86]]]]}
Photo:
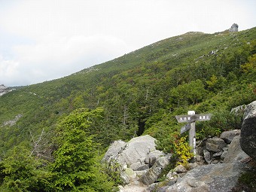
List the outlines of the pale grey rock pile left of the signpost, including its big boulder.
{"type": "Polygon", "coordinates": [[[103,160],[120,164],[120,176],[125,184],[138,178],[145,184],[154,183],[169,164],[168,155],[156,150],[155,141],[151,136],[139,136],[129,142],[115,141],[103,160]]]}

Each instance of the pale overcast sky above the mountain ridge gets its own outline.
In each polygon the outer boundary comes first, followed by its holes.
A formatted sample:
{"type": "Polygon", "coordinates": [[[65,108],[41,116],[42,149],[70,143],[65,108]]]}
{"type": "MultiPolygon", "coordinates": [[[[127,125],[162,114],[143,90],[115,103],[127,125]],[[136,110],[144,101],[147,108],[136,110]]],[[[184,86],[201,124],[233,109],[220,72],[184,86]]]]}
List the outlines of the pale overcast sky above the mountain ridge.
{"type": "Polygon", "coordinates": [[[255,0],[0,0],[0,84],[62,78],[186,32],[256,26],[255,0]]]}

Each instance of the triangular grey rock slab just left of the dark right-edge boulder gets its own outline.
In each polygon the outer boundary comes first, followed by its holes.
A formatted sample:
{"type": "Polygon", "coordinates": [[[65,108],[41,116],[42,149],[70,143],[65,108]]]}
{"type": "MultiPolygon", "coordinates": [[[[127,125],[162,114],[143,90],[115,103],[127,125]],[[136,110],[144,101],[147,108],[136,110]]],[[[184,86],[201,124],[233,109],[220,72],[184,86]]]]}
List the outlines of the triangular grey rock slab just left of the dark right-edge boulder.
{"type": "Polygon", "coordinates": [[[228,148],[223,163],[233,163],[235,161],[242,161],[248,158],[248,155],[242,151],[239,142],[240,136],[235,136],[228,148]]]}

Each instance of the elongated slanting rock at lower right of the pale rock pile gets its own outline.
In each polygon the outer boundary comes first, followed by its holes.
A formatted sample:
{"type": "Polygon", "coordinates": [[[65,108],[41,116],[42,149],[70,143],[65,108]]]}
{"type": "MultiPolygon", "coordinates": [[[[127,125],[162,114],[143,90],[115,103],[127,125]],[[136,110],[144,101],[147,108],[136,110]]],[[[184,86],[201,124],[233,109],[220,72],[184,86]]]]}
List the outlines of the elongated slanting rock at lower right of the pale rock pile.
{"type": "Polygon", "coordinates": [[[159,157],[154,163],[154,166],[151,169],[148,169],[148,172],[145,175],[142,175],[140,181],[144,184],[152,184],[154,181],[157,181],[158,176],[161,174],[164,168],[169,165],[169,160],[167,157],[159,157]]]}

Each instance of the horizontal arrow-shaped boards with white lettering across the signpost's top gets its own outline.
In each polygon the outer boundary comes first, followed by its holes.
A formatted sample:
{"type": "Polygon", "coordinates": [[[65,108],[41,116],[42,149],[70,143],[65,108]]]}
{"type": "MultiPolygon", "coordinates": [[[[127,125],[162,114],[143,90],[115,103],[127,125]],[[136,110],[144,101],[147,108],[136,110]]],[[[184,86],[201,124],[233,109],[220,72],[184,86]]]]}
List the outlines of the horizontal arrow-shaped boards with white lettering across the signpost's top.
{"type": "Polygon", "coordinates": [[[195,121],[210,120],[212,114],[186,114],[186,115],[176,115],[176,120],[178,123],[191,123],[195,121]]]}

